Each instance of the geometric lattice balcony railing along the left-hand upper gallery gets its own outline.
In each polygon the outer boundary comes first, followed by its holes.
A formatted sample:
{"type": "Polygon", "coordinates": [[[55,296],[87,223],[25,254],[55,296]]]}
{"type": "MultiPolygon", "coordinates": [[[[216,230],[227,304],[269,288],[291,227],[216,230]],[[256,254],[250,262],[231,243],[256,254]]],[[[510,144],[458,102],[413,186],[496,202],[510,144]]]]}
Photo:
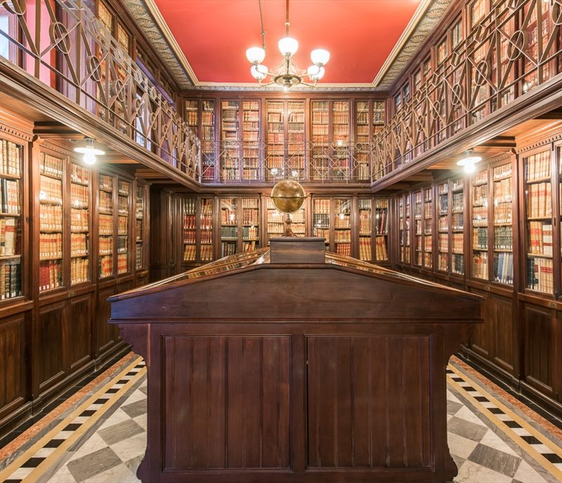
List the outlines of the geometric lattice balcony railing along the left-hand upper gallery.
{"type": "Polygon", "coordinates": [[[200,181],[199,139],[86,2],[1,0],[0,18],[0,63],[9,60],[174,172],[200,181]]]}

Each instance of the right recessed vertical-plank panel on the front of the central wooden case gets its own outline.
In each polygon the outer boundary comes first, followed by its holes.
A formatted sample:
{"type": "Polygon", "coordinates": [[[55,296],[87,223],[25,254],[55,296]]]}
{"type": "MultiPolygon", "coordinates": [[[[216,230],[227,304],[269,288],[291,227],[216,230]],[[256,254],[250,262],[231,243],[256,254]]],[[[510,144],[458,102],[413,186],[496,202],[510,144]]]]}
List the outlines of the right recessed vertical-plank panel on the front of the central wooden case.
{"type": "Polygon", "coordinates": [[[429,338],[307,340],[308,468],[429,467],[429,401],[414,403],[429,391],[429,338]],[[407,366],[410,356],[419,361],[417,371],[407,366]],[[407,393],[396,390],[404,384],[407,393]],[[388,421],[380,414],[390,414],[388,421]],[[408,420],[419,425],[409,425],[408,420]],[[408,430],[389,432],[387,424],[408,430]]]}

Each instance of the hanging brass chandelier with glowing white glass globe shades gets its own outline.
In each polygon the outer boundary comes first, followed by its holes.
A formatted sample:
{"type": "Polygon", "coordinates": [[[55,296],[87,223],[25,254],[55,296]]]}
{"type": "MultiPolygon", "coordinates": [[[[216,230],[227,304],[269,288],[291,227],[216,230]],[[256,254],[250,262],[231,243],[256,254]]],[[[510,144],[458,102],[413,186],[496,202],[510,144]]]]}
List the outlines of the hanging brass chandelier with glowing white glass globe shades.
{"type": "Polygon", "coordinates": [[[262,62],[266,58],[266,31],[263,30],[263,11],[261,7],[261,0],[259,0],[259,13],[261,19],[261,47],[250,47],[246,51],[246,58],[252,64],[250,68],[251,76],[259,82],[261,86],[270,86],[277,84],[282,86],[285,91],[291,89],[292,86],[299,84],[305,86],[315,86],[317,82],[324,77],[324,65],[329,60],[329,52],[326,49],[315,49],[311,52],[311,60],[313,65],[306,70],[301,70],[296,67],[292,58],[296,51],[299,49],[299,42],[292,37],[289,37],[289,0],[286,2],[286,17],[285,17],[285,37],[280,39],[277,46],[283,56],[283,62],[279,67],[270,71],[262,62]],[[270,82],[262,84],[262,82],[270,77],[270,82]],[[308,77],[310,83],[304,82],[303,78],[308,77]]]}

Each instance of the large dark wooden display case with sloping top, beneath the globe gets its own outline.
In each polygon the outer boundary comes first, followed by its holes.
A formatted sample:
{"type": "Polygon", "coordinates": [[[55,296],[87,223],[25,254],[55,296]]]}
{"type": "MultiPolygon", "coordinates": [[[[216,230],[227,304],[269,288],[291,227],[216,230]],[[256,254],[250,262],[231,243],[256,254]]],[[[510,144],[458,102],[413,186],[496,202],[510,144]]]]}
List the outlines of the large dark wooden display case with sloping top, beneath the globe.
{"type": "Polygon", "coordinates": [[[275,238],[110,298],[148,366],[143,482],[452,481],[445,366],[481,297],[275,238]]]}

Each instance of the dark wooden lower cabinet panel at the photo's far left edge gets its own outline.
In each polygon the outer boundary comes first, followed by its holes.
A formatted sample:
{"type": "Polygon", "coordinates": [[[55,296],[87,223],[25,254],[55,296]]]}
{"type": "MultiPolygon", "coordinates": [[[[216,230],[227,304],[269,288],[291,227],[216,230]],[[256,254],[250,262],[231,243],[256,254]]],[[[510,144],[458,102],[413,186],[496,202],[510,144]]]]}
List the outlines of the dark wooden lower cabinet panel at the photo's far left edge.
{"type": "Polygon", "coordinates": [[[0,321],[0,426],[30,397],[28,313],[0,321]]]}

